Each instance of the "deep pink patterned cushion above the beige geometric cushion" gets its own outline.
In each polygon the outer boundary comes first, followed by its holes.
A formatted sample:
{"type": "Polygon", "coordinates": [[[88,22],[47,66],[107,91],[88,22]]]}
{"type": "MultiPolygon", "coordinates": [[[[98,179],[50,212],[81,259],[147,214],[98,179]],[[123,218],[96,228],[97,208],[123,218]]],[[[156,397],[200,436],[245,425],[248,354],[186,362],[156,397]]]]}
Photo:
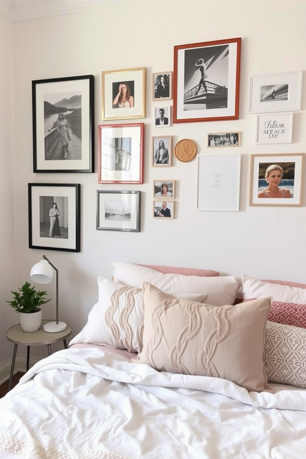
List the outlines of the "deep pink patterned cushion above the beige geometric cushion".
{"type": "MultiPolygon", "coordinates": [[[[250,300],[244,300],[244,302],[246,301],[250,300]]],[[[306,328],[306,304],[273,301],[268,320],[278,324],[306,328]]]]}

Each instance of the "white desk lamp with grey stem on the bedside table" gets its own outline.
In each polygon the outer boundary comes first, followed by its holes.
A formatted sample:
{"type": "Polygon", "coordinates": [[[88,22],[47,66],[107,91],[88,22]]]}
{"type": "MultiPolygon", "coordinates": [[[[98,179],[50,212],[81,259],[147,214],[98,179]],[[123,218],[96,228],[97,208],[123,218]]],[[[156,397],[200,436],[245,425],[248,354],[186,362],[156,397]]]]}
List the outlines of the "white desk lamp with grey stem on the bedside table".
{"type": "Polygon", "coordinates": [[[53,270],[56,271],[56,322],[48,322],[44,325],[44,331],[48,333],[57,333],[58,331],[66,330],[67,324],[58,321],[58,269],[43,255],[43,260],[34,264],[31,269],[30,278],[38,284],[50,284],[53,278],[53,270]]]}

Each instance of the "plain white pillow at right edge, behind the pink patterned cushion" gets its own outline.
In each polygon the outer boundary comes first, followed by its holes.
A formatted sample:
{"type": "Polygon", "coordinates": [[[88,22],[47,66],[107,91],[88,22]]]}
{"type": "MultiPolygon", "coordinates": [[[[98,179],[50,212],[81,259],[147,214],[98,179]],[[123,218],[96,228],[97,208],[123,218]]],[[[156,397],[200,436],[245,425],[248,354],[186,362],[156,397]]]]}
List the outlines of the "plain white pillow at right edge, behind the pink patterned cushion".
{"type": "Polygon", "coordinates": [[[242,295],[244,300],[273,297],[273,301],[306,304],[306,289],[270,284],[245,274],[242,274],[242,295]]]}

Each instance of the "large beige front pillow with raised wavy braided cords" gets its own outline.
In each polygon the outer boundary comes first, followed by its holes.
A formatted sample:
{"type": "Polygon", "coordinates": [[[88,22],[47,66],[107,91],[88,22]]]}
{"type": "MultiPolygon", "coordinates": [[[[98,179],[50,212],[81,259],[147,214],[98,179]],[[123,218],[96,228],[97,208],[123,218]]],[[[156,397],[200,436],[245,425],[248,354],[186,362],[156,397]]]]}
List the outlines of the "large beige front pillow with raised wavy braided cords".
{"type": "Polygon", "coordinates": [[[262,360],[270,298],[216,307],[180,300],[145,282],[143,349],[133,362],[269,389],[262,360]]]}

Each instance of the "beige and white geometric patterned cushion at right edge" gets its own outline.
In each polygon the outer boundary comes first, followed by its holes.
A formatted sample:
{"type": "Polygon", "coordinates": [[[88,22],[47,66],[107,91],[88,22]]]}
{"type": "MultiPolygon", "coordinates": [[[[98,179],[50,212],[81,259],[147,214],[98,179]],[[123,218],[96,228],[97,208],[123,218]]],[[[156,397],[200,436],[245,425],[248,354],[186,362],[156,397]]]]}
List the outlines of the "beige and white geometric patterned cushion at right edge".
{"type": "Polygon", "coordinates": [[[268,320],[263,362],[269,382],[306,389],[306,330],[268,320]]]}

